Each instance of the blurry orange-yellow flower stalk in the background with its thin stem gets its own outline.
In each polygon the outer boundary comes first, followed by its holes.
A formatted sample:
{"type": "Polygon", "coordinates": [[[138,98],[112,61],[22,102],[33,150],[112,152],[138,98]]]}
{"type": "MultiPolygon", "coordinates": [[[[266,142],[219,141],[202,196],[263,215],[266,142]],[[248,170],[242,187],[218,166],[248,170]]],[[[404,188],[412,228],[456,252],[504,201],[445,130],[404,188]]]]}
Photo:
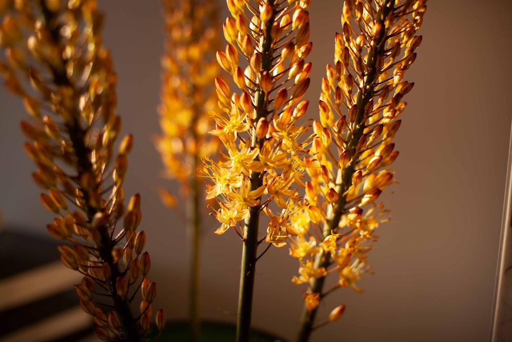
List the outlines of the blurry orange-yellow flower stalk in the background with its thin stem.
{"type": "MultiPolygon", "coordinates": [[[[203,0],[164,0],[166,52],[162,58],[163,82],[159,107],[162,135],[156,147],[162,156],[165,175],[181,183],[187,198],[186,226],[189,237],[189,307],[191,340],[199,341],[200,327],[200,235],[204,188],[198,178],[201,159],[211,157],[219,139],[207,134],[208,112],[215,109],[214,81],[219,73],[215,58],[219,38],[216,7],[203,0]]],[[[174,196],[161,190],[165,203],[174,196]]]]}

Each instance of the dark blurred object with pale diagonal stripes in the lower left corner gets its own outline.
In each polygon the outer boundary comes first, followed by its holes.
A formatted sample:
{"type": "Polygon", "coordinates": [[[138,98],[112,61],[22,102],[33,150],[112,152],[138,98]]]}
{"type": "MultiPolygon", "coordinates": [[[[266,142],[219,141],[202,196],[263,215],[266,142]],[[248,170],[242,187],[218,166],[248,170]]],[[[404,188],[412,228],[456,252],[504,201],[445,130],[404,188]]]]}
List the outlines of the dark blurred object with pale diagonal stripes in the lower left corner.
{"type": "Polygon", "coordinates": [[[59,243],[20,229],[0,231],[0,342],[76,341],[92,331],[59,243]]]}

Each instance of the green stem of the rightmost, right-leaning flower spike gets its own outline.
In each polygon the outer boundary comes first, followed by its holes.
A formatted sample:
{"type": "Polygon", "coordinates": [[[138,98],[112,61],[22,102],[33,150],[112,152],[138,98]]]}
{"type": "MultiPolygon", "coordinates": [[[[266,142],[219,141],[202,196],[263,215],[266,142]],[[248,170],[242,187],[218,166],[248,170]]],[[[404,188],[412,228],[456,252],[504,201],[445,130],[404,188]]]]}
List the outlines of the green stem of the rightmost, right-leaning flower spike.
{"type": "MultiPolygon", "coordinates": [[[[359,139],[362,135],[362,132],[365,129],[364,120],[365,120],[365,107],[373,97],[373,84],[375,79],[378,77],[376,70],[376,61],[377,56],[382,55],[384,52],[384,40],[386,36],[387,28],[385,27],[385,18],[388,14],[394,9],[394,1],[393,0],[385,0],[382,4],[382,8],[377,13],[377,23],[381,24],[381,30],[377,39],[375,39],[374,45],[371,48],[371,55],[373,56],[370,61],[367,62],[368,74],[365,77],[365,83],[362,89],[359,89],[357,93],[357,101],[356,105],[358,108],[357,117],[355,120],[355,125],[353,126],[352,133],[349,133],[347,136],[347,150],[351,157],[351,162],[348,163],[343,170],[338,170],[337,178],[336,178],[336,192],[338,194],[343,194],[351,185],[352,175],[354,174],[355,167],[358,162],[358,156],[356,147],[359,139]]],[[[335,208],[329,210],[327,212],[326,224],[323,229],[323,238],[329,236],[332,231],[336,231],[339,226],[339,222],[342,218],[342,214],[345,209],[345,205],[347,204],[347,196],[339,196],[335,208]]],[[[331,255],[329,253],[325,253],[325,251],[321,251],[315,257],[314,261],[314,269],[325,268],[327,269],[332,264],[331,255]]],[[[324,288],[326,277],[312,278],[310,280],[309,288],[311,293],[319,293],[320,300],[323,298],[322,290],[324,288]]],[[[318,311],[318,307],[312,309],[311,311],[306,308],[306,305],[303,307],[302,315],[301,315],[301,327],[298,332],[297,342],[307,342],[313,332],[313,324],[316,318],[316,314],[318,311]]]]}

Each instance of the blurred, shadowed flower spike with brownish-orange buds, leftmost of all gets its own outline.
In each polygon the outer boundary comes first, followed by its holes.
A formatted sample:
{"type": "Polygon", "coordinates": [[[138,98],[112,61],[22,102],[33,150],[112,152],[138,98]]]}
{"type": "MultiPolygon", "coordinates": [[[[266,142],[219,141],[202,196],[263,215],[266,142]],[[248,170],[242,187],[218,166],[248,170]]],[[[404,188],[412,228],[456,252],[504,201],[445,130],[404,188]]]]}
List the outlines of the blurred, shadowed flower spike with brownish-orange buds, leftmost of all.
{"type": "MultiPolygon", "coordinates": [[[[33,179],[46,189],[41,203],[57,215],[48,231],[68,243],[59,247],[62,263],[84,275],[75,290],[98,337],[139,341],[150,326],[156,284],[146,278],[145,233],[136,231],[140,196],[123,205],[133,138],[125,136],[114,152],[121,118],[115,114],[117,77],[102,46],[102,15],[95,0],[1,5],[6,58],[0,71],[31,115],[21,128],[32,140],[25,149],[38,168],[33,179]],[[140,314],[134,316],[139,289],[140,314]],[[102,302],[109,297],[111,303],[102,302]]],[[[163,311],[156,322],[163,329],[163,311]]]]}

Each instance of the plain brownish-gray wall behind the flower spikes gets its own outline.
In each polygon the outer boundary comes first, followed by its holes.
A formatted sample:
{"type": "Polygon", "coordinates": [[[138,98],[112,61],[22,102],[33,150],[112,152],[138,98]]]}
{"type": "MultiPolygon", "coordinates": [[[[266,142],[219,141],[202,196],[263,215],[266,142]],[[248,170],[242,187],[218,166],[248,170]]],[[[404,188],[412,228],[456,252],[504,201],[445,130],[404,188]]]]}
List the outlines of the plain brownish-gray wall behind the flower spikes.
{"type": "MultiPolygon", "coordinates": [[[[313,1],[310,8],[314,69],[309,98],[316,102],[325,65],[333,59],[342,1],[313,1]]],[[[220,4],[224,8],[224,2],[220,4]]],[[[162,16],[158,1],[101,1],[104,43],[119,75],[123,132],[135,134],[126,194],[142,195],[142,228],[152,256],[157,301],[170,318],[187,315],[185,233],[176,212],[155,191],[162,180],[152,136],[159,133],[162,16]]],[[[492,311],[504,197],[511,112],[508,0],[432,0],[418,58],[407,75],[416,85],[396,137],[400,184],[383,197],[392,222],[369,263],[375,275],[355,294],[339,290],[320,317],[346,304],[342,320],[318,330],[314,341],[483,341],[492,311]]],[[[225,15],[223,15],[225,16],[225,15]]],[[[23,150],[18,99],[0,90],[0,212],[4,226],[47,234],[52,216],[41,208],[23,150]]],[[[310,106],[310,114],[316,106],[310,106]]],[[[205,211],[206,213],[206,211],[205,211]]],[[[208,220],[208,218],[206,218],[208,220]]],[[[241,245],[236,234],[203,237],[203,314],[234,321],[241,245]]],[[[36,256],[34,256],[36,257],[36,256]]],[[[292,338],[303,289],[293,285],[296,261],[271,249],[258,266],[253,325],[292,338]]]]}

